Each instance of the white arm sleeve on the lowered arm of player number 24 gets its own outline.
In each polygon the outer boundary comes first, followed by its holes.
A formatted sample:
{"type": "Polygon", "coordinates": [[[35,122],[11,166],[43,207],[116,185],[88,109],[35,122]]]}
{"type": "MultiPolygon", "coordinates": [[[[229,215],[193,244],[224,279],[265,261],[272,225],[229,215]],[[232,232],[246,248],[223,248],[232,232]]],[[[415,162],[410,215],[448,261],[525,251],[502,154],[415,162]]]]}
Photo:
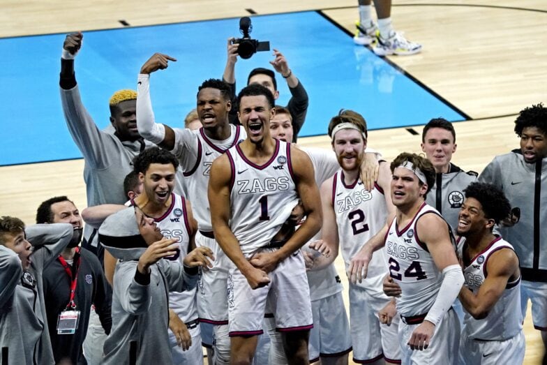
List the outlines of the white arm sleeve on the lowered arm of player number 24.
{"type": "Polygon", "coordinates": [[[442,270],[442,284],[437,299],[431,306],[425,320],[437,325],[444,313],[450,309],[458,297],[464,278],[460,265],[449,265],[442,270]]]}

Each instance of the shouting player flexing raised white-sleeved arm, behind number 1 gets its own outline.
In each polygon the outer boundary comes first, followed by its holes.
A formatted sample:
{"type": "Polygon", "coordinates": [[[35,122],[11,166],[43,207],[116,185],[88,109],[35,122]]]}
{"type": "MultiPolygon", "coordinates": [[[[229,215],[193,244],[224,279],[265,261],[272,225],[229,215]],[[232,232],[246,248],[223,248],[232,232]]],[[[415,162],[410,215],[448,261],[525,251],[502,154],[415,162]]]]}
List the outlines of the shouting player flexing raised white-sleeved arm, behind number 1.
{"type": "Polygon", "coordinates": [[[232,107],[229,87],[224,82],[213,79],[203,82],[197,92],[197,114],[202,128],[190,131],[156,124],[150,100],[149,79],[151,73],[167,68],[168,61],[174,59],[156,53],[141,68],[137,85],[137,128],[147,140],[155,141],[160,147],[172,151],[182,166],[186,178],[184,190],[188,196],[193,197],[193,212],[198,227],[195,244],[197,247],[211,248],[215,258],[211,269],[200,271],[197,285],[197,310],[202,332],[213,332],[214,336],[214,340],[209,336],[202,336],[202,342],[207,348],[211,348],[214,342],[214,362],[228,364],[230,338],[225,298],[230,260],[218,247],[213,234],[207,202],[207,184],[214,159],[245,138],[246,134],[241,126],[230,125],[228,122],[228,112],[232,107]],[[208,325],[212,325],[213,329],[208,325]]]}

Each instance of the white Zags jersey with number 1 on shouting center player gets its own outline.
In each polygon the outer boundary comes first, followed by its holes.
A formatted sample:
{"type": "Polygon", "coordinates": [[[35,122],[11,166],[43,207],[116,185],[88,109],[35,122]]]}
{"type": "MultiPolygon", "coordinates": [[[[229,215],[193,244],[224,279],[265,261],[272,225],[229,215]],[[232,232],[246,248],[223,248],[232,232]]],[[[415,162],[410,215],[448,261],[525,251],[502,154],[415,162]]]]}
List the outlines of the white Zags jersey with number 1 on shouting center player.
{"type": "Polygon", "coordinates": [[[232,167],[230,228],[243,255],[267,246],[298,204],[290,143],[276,140],[267,163],[248,160],[239,144],[227,151],[232,167]]]}

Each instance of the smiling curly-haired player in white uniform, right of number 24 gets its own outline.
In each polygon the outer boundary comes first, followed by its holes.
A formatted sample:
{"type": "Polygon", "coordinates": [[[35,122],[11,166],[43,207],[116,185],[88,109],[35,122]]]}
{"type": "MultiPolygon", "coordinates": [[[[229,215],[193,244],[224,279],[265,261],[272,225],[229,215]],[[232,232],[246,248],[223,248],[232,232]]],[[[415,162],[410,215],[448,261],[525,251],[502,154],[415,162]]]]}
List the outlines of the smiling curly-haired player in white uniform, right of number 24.
{"type": "Polygon", "coordinates": [[[520,269],[513,246],[492,232],[509,216],[502,191],[484,183],[465,188],[458,251],[465,285],[460,339],[462,364],[522,364],[525,338],[520,313],[520,269]]]}

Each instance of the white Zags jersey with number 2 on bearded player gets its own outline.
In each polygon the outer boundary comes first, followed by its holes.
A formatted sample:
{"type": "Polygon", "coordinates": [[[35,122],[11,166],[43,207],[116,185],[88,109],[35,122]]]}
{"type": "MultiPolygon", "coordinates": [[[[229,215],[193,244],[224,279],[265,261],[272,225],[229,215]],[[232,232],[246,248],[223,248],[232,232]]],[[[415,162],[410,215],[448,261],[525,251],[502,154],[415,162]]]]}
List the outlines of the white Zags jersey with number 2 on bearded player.
{"type": "MultiPolygon", "coordinates": [[[[338,241],[344,258],[346,270],[350,261],[363,244],[380,231],[387,218],[387,205],[384,191],[374,184],[372,191],[367,191],[363,181],[357,179],[346,185],[344,172],[334,174],[332,184],[332,206],[338,225],[338,241]]],[[[368,265],[367,278],[359,286],[368,287],[377,283],[377,276],[385,276],[384,248],[373,254],[368,265]]]]}

